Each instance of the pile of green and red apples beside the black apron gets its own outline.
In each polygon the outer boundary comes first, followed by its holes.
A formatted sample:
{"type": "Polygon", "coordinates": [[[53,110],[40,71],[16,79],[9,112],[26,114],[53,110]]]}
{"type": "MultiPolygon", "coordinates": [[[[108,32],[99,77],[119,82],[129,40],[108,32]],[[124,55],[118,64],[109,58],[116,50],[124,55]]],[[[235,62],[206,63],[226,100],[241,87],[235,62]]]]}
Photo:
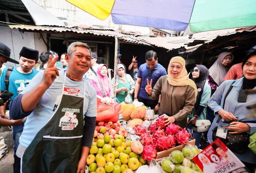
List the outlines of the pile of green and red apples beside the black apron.
{"type": "Polygon", "coordinates": [[[86,160],[91,173],[126,173],[146,163],[142,154],[132,151],[132,141],[125,139],[128,132],[119,122],[101,121],[98,125],[86,160]]]}

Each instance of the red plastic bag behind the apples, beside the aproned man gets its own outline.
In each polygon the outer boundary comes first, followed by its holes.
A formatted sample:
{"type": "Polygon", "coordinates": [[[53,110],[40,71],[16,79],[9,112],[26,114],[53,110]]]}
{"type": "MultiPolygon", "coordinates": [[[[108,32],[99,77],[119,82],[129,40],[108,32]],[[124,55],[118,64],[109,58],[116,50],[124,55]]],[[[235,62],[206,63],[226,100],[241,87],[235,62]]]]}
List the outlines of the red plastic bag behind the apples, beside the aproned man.
{"type": "Polygon", "coordinates": [[[121,104],[115,102],[109,105],[98,103],[97,99],[97,117],[96,122],[99,121],[112,121],[117,122],[119,119],[119,111],[121,110],[121,104]]]}

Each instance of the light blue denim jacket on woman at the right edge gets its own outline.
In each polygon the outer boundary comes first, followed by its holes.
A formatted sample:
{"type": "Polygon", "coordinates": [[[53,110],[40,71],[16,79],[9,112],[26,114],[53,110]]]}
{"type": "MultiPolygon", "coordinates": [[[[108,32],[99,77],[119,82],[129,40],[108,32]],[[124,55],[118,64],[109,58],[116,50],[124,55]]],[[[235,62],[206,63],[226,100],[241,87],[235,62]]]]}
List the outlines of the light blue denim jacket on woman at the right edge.
{"type": "MultiPolygon", "coordinates": [[[[239,91],[243,85],[243,78],[240,78],[238,80],[227,80],[224,81],[215,91],[211,99],[208,101],[208,106],[214,111],[215,118],[213,120],[213,123],[209,129],[208,132],[208,141],[210,143],[213,142],[212,140],[212,130],[215,127],[216,121],[219,117],[219,115],[216,113],[220,110],[223,110],[223,102],[224,98],[232,84],[233,88],[230,91],[229,95],[226,98],[224,110],[232,113],[234,116],[237,117],[237,121],[243,122],[243,121],[256,121],[256,109],[246,109],[246,106],[255,104],[256,95],[247,95],[246,102],[238,102],[238,94],[239,91]]],[[[256,87],[254,87],[256,89],[256,87]]],[[[219,121],[220,125],[222,123],[222,119],[219,121]]],[[[247,132],[250,134],[253,134],[256,132],[256,123],[246,123],[251,127],[251,131],[247,132]]],[[[218,126],[217,125],[217,126],[218,126]]],[[[248,149],[246,153],[239,155],[234,153],[240,160],[249,162],[249,163],[256,163],[256,155],[252,152],[252,150],[248,149]]]]}

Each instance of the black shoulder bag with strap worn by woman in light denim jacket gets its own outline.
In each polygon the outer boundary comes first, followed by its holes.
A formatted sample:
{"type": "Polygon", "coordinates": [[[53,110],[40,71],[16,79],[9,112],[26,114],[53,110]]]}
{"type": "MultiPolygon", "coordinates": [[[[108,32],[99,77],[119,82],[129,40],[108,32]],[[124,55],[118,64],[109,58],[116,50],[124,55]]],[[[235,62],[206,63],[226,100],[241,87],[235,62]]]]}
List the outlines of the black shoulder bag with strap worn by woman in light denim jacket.
{"type": "MultiPolygon", "coordinates": [[[[227,98],[229,92],[233,88],[232,84],[224,98],[223,109],[224,109],[226,98],[227,98]]],[[[218,125],[219,121],[221,120],[221,118],[222,118],[221,115],[219,115],[219,117],[216,121],[216,124],[215,124],[215,128],[212,130],[213,131],[213,133],[212,133],[213,141],[216,140],[217,138],[219,138],[218,136],[216,136],[216,132],[218,129],[217,125],[218,125]]],[[[230,121],[230,122],[232,122],[232,121],[230,121]]],[[[230,122],[224,122],[224,123],[230,124],[230,122]]],[[[228,130],[226,139],[219,138],[219,140],[221,140],[232,152],[237,153],[237,154],[244,154],[246,152],[246,150],[248,149],[248,145],[250,143],[249,142],[250,134],[248,134],[246,132],[230,134],[229,132],[232,132],[232,131],[228,130]]]]}

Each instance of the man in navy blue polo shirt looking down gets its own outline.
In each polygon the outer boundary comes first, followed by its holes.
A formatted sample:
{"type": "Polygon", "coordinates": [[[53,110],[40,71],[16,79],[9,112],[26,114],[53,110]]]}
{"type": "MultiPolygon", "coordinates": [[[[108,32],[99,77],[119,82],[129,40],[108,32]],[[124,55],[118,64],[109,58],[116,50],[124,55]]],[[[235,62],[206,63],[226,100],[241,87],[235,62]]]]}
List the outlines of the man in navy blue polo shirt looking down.
{"type": "Polygon", "coordinates": [[[147,97],[145,87],[147,85],[147,79],[150,82],[152,80],[152,88],[154,88],[156,82],[161,76],[167,75],[166,69],[157,62],[157,54],[154,51],[148,51],[145,54],[146,63],[142,64],[138,71],[137,81],[135,84],[134,101],[143,102],[145,106],[151,107],[158,112],[160,106],[159,100],[151,100],[147,97]]]}

